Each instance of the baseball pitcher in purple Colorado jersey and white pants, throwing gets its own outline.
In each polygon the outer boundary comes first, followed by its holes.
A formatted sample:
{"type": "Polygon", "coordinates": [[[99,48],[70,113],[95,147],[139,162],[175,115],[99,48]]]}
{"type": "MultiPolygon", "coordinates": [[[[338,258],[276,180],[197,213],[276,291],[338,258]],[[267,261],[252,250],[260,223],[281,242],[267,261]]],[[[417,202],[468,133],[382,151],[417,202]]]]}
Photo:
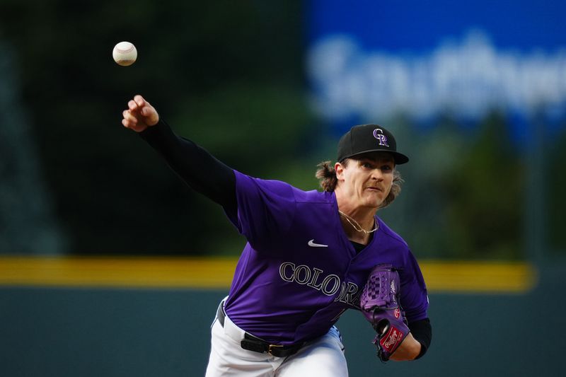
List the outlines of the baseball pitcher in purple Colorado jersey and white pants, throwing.
{"type": "Polygon", "coordinates": [[[192,189],[221,205],[248,241],[212,325],[207,377],[347,376],[335,327],[347,309],[374,328],[382,361],[429,348],[427,288],[410,249],[378,216],[409,158],[377,124],[352,127],[337,159],[318,166],[322,190],[233,170],[178,137],[141,95],[122,113],[192,189]]]}

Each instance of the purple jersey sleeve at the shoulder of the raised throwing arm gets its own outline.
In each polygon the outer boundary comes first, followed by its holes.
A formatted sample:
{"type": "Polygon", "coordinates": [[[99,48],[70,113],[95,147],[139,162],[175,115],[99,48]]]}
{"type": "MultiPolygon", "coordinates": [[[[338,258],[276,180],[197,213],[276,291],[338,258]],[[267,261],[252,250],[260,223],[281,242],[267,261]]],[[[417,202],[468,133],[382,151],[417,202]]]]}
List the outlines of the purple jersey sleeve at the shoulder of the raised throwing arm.
{"type": "Polygon", "coordinates": [[[293,222],[296,189],[286,182],[234,173],[238,210],[236,216],[228,214],[230,221],[256,250],[277,245],[293,222]]]}

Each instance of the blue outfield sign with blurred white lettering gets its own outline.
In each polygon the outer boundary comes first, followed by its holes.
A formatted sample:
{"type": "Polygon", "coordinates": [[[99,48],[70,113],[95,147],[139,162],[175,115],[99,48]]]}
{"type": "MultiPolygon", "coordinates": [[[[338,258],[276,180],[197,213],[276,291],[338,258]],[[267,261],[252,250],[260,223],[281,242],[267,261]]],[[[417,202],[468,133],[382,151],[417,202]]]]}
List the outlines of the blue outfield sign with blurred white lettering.
{"type": "Polygon", "coordinates": [[[397,113],[555,119],[566,105],[566,2],[311,0],[307,74],[335,124],[397,113]]]}

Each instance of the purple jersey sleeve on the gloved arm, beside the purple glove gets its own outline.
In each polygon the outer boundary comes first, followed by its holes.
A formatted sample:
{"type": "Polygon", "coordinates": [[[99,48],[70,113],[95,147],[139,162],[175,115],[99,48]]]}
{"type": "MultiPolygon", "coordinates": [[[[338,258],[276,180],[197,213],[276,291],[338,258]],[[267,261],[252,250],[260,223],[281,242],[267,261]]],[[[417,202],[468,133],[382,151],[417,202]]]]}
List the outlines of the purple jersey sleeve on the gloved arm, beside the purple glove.
{"type": "Polygon", "coordinates": [[[412,253],[408,252],[405,267],[399,271],[401,281],[400,301],[408,322],[428,317],[429,299],[422,272],[412,253]]]}

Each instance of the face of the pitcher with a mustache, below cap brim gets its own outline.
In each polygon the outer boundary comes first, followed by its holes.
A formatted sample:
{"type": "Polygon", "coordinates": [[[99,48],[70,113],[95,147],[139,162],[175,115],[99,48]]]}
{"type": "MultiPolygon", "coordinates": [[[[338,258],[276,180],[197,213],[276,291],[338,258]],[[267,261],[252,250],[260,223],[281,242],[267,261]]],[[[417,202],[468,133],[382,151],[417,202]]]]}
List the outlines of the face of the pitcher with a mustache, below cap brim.
{"type": "Polygon", "coordinates": [[[391,191],[395,161],[389,153],[365,153],[346,166],[336,163],[335,170],[340,190],[354,207],[378,208],[391,191]]]}

